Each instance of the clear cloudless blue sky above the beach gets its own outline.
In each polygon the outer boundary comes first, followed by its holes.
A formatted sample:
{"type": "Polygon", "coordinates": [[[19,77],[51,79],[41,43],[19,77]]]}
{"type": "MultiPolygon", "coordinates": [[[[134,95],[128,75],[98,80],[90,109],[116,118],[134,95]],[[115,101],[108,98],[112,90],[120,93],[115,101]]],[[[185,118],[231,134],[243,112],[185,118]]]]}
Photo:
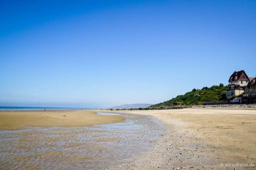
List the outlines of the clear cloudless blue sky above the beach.
{"type": "Polygon", "coordinates": [[[154,104],[256,76],[255,21],[256,1],[2,0],[0,106],[154,104]]]}

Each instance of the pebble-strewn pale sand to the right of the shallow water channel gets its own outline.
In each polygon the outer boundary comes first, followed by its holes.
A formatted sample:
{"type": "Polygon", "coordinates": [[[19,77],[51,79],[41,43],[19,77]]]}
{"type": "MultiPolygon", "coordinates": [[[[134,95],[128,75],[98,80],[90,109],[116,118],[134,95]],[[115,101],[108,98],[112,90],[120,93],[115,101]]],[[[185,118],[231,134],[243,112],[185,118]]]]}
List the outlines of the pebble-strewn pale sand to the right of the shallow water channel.
{"type": "Polygon", "coordinates": [[[256,110],[180,109],[135,110],[125,113],[150,115],[167,131],[155,147],[136,162],[115,169],[255,169],[256,110]],[[223,164],[222,164],[223,163],[223,164]],[[225,163],[252,163],[232,167],[225,163]]]}

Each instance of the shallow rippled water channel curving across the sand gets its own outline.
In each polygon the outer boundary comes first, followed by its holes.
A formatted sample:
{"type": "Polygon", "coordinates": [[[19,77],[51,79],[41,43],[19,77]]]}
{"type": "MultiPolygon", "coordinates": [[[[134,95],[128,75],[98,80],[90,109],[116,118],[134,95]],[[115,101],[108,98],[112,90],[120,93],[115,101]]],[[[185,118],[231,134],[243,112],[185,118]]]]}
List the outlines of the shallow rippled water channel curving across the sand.
{"type": "Polygon", "coordinates": [[[0,169],[105,169],[132,161],[164,132],[151,116],[120,116],[125,121],[90,127],[0,131],[0,169]]]}

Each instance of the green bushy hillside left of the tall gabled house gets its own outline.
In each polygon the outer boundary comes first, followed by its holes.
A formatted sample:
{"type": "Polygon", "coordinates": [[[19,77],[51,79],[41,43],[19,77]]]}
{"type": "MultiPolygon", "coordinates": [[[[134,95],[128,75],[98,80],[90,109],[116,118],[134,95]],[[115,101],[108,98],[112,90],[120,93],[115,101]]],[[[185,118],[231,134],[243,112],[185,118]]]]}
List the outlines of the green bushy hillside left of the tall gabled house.
{"type": "Polygon", "coordinates": [[[201,90],[193,89],[191,92],[187,92],[184,95],[179,95],[168,101],[158,103],[152,107],[160,106],[175,106],[175,105],[202,105],[203,101],[220,101],[226,100],[226,89],[228,86],[212,86],[210,88],[204,87],[201,90]]]}

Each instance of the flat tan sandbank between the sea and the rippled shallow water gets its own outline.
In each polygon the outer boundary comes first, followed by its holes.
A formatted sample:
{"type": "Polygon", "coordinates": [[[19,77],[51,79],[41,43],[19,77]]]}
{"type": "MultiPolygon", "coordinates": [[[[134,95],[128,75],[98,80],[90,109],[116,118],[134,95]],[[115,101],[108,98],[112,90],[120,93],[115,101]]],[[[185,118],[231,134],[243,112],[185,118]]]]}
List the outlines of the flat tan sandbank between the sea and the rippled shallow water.
{"type": "Polygon", "coordinates": [[[122,116],[97,115],[92,110],[0,111],[0,130],[24,127],[83,127],[123,121],[122,116]]]}

